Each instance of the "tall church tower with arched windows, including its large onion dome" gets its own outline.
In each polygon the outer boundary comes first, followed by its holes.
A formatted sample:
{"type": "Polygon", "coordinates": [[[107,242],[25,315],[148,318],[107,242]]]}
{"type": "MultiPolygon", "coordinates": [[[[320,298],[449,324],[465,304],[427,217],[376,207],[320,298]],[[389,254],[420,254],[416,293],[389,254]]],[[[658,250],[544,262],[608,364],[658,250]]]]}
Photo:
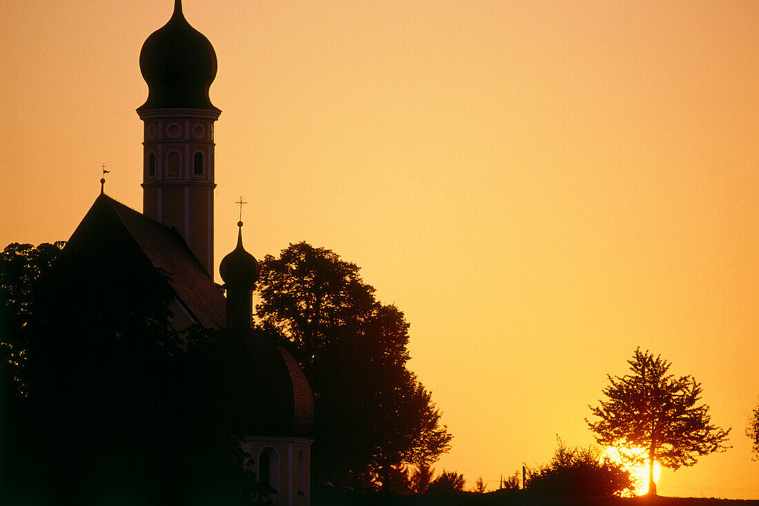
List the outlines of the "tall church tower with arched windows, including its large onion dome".
{"type": "Polygon", "coordinates": [[[140,52],[148,97],[144,122],[143,213],[174,226],[209,276],[213,274],[213,123],[221,110],[208,90],[216,52],[182,14],[153,32],[140,52]]]}

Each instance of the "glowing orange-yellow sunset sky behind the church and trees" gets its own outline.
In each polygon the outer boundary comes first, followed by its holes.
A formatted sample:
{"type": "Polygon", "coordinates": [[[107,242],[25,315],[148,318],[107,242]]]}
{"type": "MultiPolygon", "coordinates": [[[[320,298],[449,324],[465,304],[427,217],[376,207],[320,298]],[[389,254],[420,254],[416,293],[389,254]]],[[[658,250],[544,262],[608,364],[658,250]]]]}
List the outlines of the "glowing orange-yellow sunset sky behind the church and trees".
{"type": "MultiPolygon", "coordinates": [[[[140,48],[171,0],[2,0],[0,247],[142,208],[140,48]]],[[[759,498],[759,2],[185,0],[213,43],[216,263],[305,240],[411,322],[438,471],[550,460],[636,346],[733,448],[662,495],[759,498]]],[[[218,277],[218,273],[216,274],[218,277]]]]}

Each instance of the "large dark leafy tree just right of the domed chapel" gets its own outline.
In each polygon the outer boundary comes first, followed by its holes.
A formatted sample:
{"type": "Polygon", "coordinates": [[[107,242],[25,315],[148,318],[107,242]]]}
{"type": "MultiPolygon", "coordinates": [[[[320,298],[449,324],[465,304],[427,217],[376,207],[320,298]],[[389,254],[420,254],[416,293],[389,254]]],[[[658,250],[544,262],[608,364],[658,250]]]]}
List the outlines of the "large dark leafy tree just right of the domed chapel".
{"type": "Polygon", "coordinates": [[[261,267],[257,321],[299,359],[313,389],[313,476],[387,486],[393,466],[448,451],[430,392],[406,368],[408,323],[375,299],[355,264],[300,242],[261,267]]]}

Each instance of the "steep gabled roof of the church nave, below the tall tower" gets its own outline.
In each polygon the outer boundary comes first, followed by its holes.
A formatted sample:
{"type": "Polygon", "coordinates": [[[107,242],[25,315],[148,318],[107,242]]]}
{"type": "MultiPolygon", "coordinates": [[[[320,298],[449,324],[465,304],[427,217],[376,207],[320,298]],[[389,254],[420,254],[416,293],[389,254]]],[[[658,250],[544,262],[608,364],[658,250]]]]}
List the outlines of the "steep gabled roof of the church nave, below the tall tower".
{"type": "MultiPolygon", "coordinates": [[[[108,255],[112,248],[104,242],[118,244],[120,248],[126,245],[132,255],[143,256],[146,260],[143,264],[164,274],[179,302],[198,324],[206,328],[225,326],[226,299],[176,229],[100,194],[65,249],[74,255],[83,249],[95,249],[108,255]]],[[[108,260],[103,258],[102,262],[108,260]]]]}

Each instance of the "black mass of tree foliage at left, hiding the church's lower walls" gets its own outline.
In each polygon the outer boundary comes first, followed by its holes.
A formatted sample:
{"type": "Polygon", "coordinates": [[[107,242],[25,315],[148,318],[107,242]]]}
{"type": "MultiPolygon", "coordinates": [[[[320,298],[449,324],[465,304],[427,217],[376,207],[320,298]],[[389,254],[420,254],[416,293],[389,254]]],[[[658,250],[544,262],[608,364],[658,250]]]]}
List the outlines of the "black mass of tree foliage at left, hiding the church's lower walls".
{"type": "MultiPolygon", "coordinates": [[[[24,381],[4,383],[0,502],[261,499],[209,333],[172,327],[159,274],[134,276],[144,271],[126,258],[88,271],[55,248],[10,245],[0,258],[5,312],[27,315],[11,327],[23,329],[24,381]]],[[[15,378],[15,364],[3,370],[15,378]]]]}

